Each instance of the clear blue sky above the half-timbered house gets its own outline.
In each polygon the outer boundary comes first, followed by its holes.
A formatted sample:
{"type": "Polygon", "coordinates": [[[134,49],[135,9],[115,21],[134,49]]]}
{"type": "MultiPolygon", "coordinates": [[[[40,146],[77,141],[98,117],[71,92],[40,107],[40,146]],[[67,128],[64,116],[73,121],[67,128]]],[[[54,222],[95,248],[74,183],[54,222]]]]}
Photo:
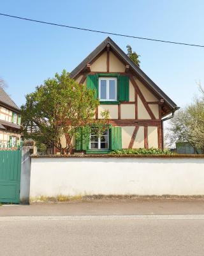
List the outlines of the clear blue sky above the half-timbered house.
{"type": "MultiPolygon", "coordinates": [[[[127,35],[204,45],[204,1],[1,0],[0,12],[127,35]]],[[[20,106],[24,95],[63,68],[71,71],[106,35],[0,16],[0,77],[20,106]]],[[[111,36],[141,55],[142,70],[177,105],[185,106],[204,83],[204,48],[111,36]]]]}

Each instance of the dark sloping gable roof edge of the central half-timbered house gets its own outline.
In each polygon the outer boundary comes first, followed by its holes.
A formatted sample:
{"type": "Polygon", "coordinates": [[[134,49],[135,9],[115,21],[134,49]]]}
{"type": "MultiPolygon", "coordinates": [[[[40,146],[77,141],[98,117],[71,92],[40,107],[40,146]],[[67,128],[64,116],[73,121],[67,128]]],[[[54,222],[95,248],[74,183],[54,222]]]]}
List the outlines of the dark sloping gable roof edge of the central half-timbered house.
{"type": "Polygon", "coordinates": [[[157,86],[143,71],[140,67],[138,67],[135,62],[133,62],[128,55],[122,51],[122,49],[120,49],[120,47],[115,44],[115,42],[113,42],[113,40],[108,36],[101,44],[98,45],[98,47],[96,47],[96,49],[94,49],[94,51],[91,52],[91,54],[89,54],[89,56],[87,56],[87,58],[85,58],[74,70],[71,71],[70,73],[70,77],[74,78],[75,76],[77,76],[85,67],[88,63],[90,63],[92,60],[94,60],[94,58],[96,58],[96,56],[103,51],[103,49],[105,49],[106,45],[110,44],[110,47],[113,49],[113,51],[117,52],[117,54],[119,54],[120,58],[122,58],[128,65],[129,67],[131,67],[133,69],[133,71],[138,75],[138,77],[140,77],[143,81],[145,81],[150,88],[159,96],[161,97],[161,99],[164,99],[164,101],[170,106],[171,109],[178,109],[179,107],[177,107],[177,104],[175,104],[175,102],[173,102],[173,100],[171,100],[166,93],[163,92],[163,90],[161,90],[159,88],[159,86],[157,86]]]}

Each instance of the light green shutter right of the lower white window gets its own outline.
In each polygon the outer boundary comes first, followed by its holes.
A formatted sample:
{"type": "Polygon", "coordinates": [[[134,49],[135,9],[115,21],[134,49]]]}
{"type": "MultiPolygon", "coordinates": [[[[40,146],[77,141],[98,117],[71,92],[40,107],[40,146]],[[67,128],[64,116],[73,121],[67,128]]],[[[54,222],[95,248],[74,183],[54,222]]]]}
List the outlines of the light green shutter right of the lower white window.
{"type": "Polygon", "coordinates": [[[122,148],[122,131],[121,127],[113,126],[110,129],[110,149],[119,150],[122,148]]]}

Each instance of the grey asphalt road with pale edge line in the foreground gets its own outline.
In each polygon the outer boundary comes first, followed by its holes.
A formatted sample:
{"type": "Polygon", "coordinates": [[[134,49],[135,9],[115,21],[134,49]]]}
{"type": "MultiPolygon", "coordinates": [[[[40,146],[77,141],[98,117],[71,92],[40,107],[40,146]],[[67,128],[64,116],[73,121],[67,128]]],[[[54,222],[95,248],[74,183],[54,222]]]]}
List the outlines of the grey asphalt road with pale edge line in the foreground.
{"type": "Polygon", "coordinates": [[[4,256],[203,256],[203,249],[204,216],[199,215],[0,218],[4,256]]]}

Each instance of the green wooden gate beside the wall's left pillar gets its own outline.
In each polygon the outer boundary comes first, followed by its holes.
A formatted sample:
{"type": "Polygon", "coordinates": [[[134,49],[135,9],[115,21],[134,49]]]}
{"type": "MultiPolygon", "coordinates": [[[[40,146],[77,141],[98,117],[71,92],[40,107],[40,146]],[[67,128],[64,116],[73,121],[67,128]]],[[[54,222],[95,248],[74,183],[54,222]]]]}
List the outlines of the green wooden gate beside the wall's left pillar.
{"type": "Polygon", "coordinates": [[[22,148],[0,149],[0,202],[20,202],[22,148]]]}

